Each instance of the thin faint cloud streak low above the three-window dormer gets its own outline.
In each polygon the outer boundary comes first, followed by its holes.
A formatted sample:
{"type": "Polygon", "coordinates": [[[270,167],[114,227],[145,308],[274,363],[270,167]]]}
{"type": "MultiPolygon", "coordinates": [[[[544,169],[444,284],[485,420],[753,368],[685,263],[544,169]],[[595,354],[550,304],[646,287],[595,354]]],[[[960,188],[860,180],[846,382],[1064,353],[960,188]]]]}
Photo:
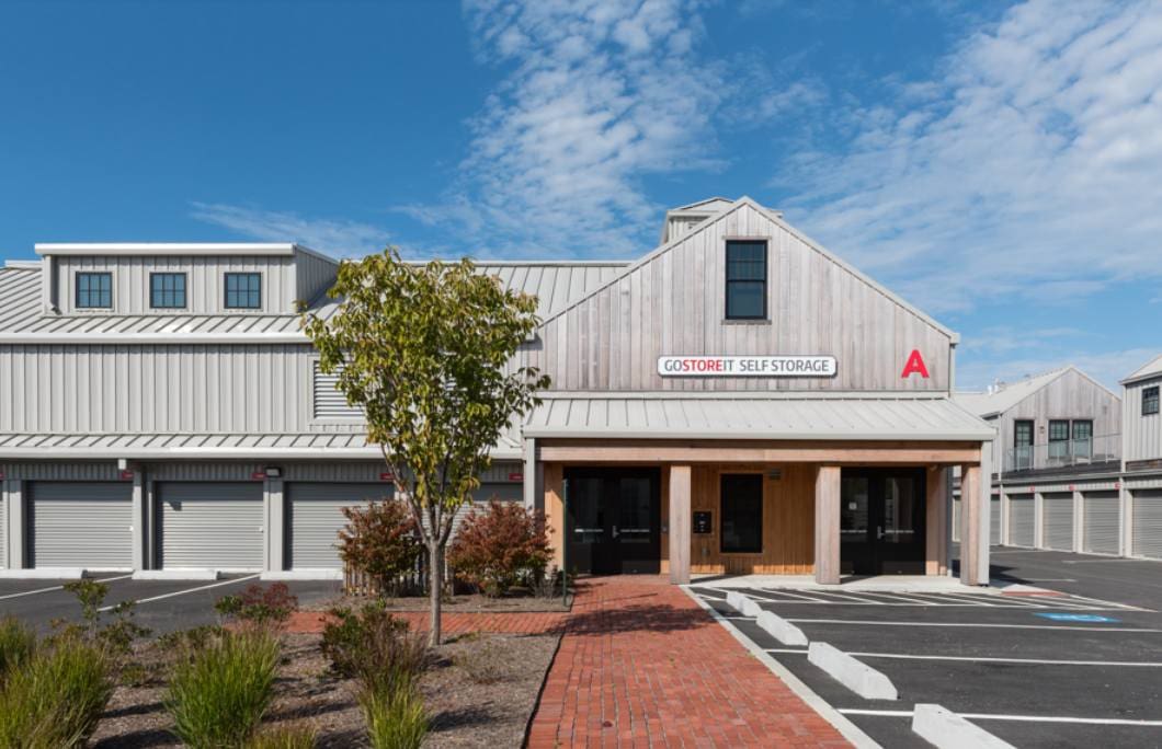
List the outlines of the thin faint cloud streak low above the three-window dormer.
{"type": "Polygon", "coordinates": [[[388,244],[387,230],[346,219],[304,218],[287,211],[223,203],[191,203],[191,216],[263,242],[296,242],[336,257],[363,257],[388,244]]]}

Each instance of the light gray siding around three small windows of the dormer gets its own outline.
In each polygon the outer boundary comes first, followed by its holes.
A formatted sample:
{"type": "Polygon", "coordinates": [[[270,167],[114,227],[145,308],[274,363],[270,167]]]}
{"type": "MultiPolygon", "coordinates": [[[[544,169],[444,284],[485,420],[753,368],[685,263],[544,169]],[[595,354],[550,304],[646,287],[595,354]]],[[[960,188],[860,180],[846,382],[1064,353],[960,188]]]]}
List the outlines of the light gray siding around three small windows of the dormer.
{"type": "MultiPolygon", "coordinates": [[[[56,258],[57,305],[64,315],[287,315],[299,298],[292,257],[81,257],[56,258]],[[78,271],[113,274],[113,309],[78,310],[78,271]],[[258,310],[225,309],[224,273],[263,274],[263,307],[258,310]],[[186,309],[156,310],[150,307],[150,273],[186,273],[186,309]]],[[[332,274],[333,275],[333,274],[332,274]]]]}

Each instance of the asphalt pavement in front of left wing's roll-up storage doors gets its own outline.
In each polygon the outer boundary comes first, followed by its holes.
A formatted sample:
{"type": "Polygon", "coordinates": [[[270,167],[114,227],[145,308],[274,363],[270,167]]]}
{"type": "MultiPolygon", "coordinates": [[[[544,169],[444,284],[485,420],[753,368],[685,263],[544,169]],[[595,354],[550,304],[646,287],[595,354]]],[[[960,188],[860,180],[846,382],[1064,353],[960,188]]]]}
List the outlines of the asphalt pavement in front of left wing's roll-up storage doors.
{"type": "MultiPolygon", "coordinates": [[[[106,606],[136,600],[135,620],[155,634],[214,624],[217,621],[214,602],[259,582],[258,575],[213,582],[135,581],[128,574],[96,575],[94,579],[109,586],[106,606]]],[[[64,582],[0,579],[0,615],[12,614],[42,632],[50,629],[53,619],[80,620],[80,605],[76,596],[62,588],[64,582]]],[[[330,598],[340,588],[338,581],[293,581],[287,585],[299,597],[300,606],[330,598]]]]}

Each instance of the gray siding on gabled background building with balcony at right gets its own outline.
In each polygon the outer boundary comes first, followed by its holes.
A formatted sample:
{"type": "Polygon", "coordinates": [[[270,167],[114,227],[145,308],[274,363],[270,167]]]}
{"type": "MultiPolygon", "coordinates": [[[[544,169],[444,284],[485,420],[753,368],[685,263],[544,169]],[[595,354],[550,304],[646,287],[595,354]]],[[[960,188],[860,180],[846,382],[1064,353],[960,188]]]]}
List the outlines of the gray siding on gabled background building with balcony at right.
{"type": "MultiPolygon", "coordinates": [[[[1069,369],[1060,377],[1031,394],[996,419],[990,420],[997,426],[997,438],[994,440],[994,460],[1000,456],[1005,460],[1004,470],[1013,470],[1010,464],[1010,451],[1013,447],[1013,422],[1032,420],[1033,442],[1042,445],[1049,441],[1049,422],[1056,419],[1092,419],[1095,451],[1106,452],[1110,447],[1117,452],[1118,440],[1111,437],[1121,432],[1121,402],[1102,386],[1081,373],[1069,369]]],[[[998,463],[994,462],[994,466],[998,463]]]]}

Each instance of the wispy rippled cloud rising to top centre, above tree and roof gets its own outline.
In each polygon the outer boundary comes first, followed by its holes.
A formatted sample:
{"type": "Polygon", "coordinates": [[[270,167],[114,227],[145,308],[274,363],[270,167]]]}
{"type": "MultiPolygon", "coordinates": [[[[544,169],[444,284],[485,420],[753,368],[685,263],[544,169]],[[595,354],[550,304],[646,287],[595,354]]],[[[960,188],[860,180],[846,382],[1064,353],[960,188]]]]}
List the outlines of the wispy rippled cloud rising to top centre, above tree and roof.
{"type": "Polygon", "coordinates": [[[717,166],[725,79],[695,55],[696,5],[469,0],[480,59],[511,72],[469,123],[446,199],[397,210],[478,252],[640,253],[660,213],[641,180],[717,166]]]}

